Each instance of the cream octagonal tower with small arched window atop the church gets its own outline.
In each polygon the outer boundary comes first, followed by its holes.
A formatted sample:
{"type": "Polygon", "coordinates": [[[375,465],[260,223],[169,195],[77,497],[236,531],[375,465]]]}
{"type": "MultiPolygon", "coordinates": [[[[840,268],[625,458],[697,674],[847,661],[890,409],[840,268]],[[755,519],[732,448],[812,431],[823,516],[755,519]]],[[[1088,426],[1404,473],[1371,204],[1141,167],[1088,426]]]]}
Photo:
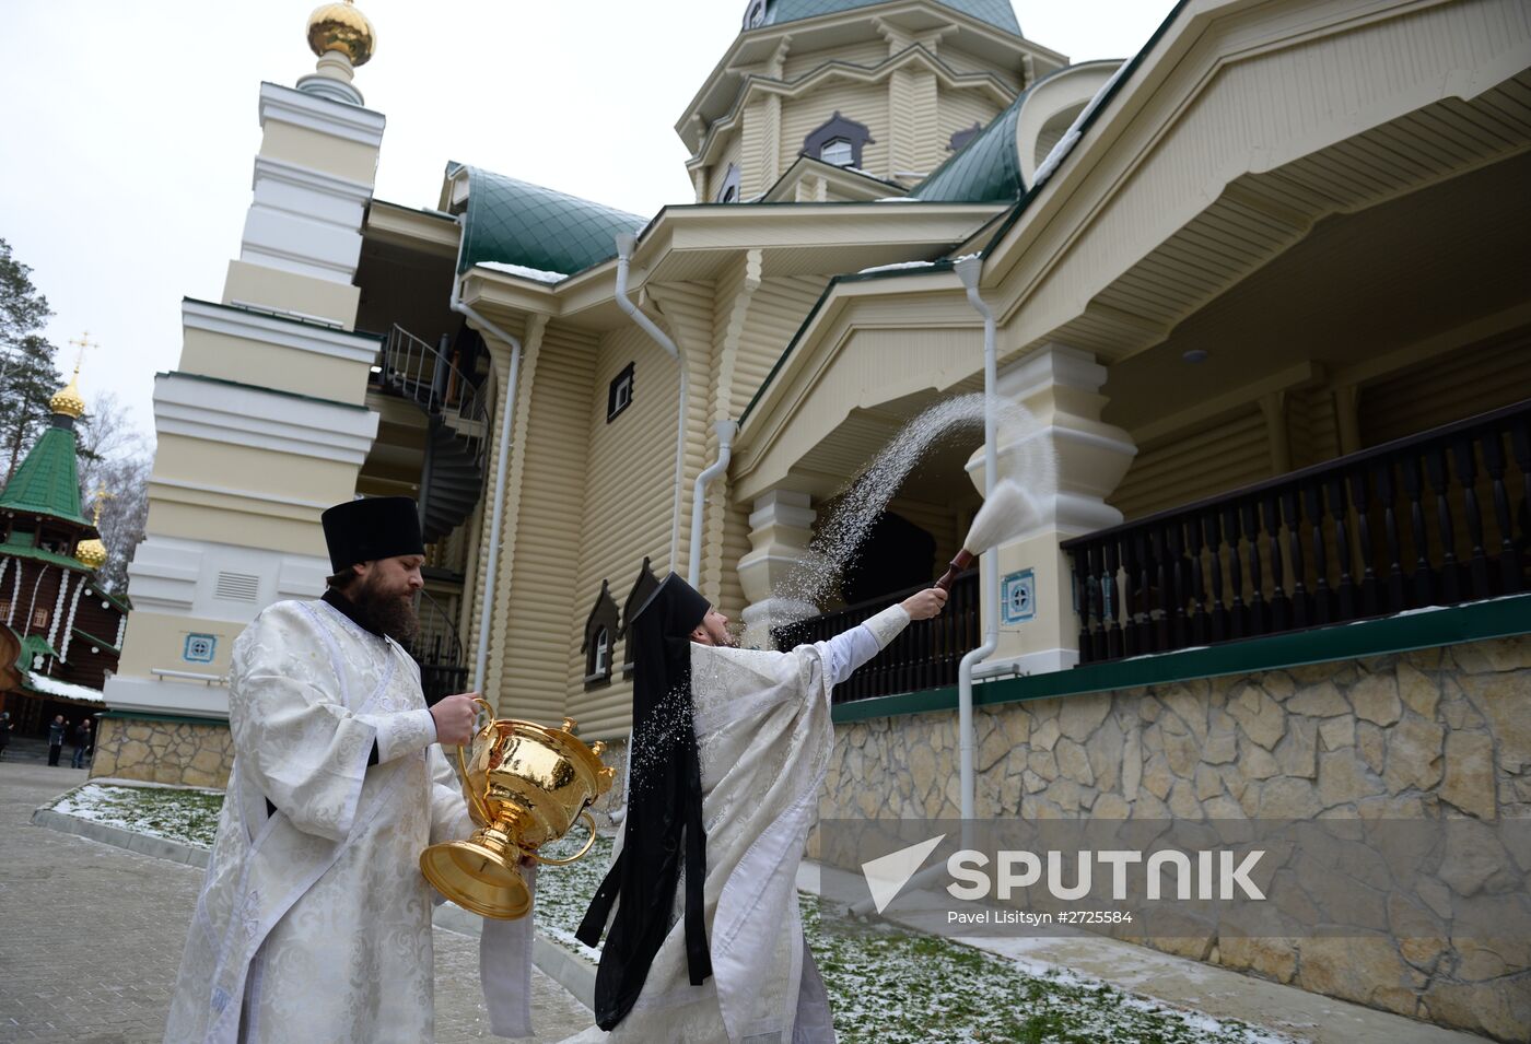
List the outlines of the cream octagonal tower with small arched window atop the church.
{"type": "Polygon", "coordinates": [[[1010,0],[749,0],[675,132],[698,204],[903,196],[1064,64],[1010,0]]]}

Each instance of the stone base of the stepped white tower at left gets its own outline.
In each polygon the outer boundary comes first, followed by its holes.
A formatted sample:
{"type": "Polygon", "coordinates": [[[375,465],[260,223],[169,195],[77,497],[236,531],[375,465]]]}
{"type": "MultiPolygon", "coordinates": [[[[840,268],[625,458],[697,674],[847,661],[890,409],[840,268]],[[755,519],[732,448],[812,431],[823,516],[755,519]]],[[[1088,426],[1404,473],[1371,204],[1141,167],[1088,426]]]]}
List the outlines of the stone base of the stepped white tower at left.
{"type": "Polygon", "coordinates": [[[101,718],[90,778],[227,787],[234,739],[224,723],[101,718]]]}

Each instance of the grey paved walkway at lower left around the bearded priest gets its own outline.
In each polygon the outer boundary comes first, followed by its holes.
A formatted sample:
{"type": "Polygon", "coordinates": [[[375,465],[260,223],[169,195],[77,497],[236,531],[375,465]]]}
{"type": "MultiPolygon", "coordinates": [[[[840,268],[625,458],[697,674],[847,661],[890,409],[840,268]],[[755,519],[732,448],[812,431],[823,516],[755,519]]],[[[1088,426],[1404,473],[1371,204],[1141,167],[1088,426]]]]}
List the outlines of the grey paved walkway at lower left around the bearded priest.
{"type": "MultiPolygon", "coordinates": [[[[84,770],[0,761],[0,1042],[158,1044],[202,871],[32,827],[84,770]]],[[[537,1041],[591,1024],[533,969],[537,1041]]],[[[436,1041],[488,1035],[478,940],[436,929],[436,1041]]]]}

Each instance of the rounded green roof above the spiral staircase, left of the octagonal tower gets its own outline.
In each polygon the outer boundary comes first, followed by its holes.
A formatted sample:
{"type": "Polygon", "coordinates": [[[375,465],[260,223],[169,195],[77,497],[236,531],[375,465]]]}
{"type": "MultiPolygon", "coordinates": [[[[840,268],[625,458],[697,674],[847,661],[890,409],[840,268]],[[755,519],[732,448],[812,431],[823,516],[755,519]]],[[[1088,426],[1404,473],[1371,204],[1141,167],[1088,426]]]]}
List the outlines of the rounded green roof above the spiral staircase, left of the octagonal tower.
{"type": "MultiPolygon", "coordinates": [[[[450,164],[447,176],[462,167],[450,164]]],[[[478,167],[468,171],[468,208],[458,272],[479,262],[573,276],[617,256],[617,233],[634,236],[643,217],[531,185],[478,167]]]]}

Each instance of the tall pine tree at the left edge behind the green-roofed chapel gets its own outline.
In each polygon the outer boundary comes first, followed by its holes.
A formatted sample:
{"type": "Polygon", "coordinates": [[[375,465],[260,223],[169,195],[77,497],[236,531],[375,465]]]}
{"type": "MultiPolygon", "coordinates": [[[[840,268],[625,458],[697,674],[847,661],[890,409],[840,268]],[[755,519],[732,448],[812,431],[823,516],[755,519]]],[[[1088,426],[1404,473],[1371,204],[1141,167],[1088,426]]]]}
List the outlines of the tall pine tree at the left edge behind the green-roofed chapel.
{"type": "Polygon", "coordinates": [[[47,426],[47,400],[58,390],[54,346],[40,331],[54,314],[32,285],[32,269],[0,239],[0,461],[11,481],[32,441],[47,426]]]}

